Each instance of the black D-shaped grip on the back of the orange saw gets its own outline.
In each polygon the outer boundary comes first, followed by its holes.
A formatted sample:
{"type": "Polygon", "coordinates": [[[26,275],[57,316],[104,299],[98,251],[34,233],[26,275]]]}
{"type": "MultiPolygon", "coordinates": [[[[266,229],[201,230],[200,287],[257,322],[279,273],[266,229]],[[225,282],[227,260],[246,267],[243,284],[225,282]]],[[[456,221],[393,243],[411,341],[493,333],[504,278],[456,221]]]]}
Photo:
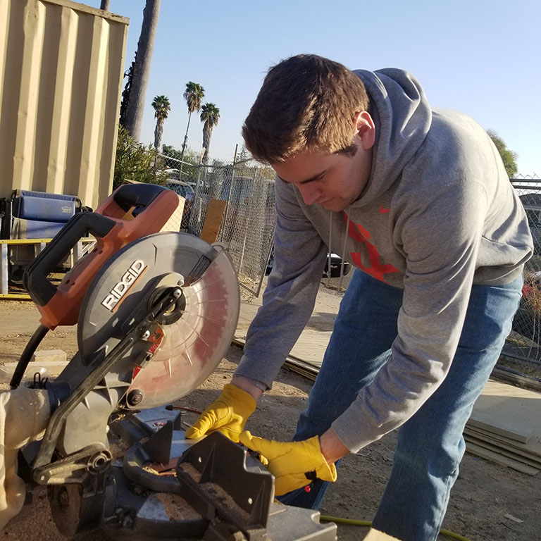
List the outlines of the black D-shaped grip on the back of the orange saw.
{"type": "Polygon", "coordinates": [[[76,214],[58,232],[49,245],[27,266],[23,285],[32,301],[45,306],[56,294],[56,286],[47,276],[68,257],[71,249],[89,233],[97,238],[105,237],[116,225],[114,220],[93,212],[76,214]]]}

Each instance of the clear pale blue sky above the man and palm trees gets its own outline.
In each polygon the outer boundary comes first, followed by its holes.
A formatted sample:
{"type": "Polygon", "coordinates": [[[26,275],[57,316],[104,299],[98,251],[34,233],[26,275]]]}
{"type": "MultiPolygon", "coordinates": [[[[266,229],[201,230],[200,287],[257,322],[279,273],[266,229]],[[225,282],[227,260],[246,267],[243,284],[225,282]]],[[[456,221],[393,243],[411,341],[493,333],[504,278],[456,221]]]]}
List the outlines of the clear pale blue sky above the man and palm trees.
{"type": "MultiPolygon", "coordinates": [[[[88,2],[91,4],[90,2],[88,2]]],[[[126,66],[141,31],[144,0],[111,0],[130,18],[126,66]]],[[[95,0],[95,7],[99,1],[95,0]]],[[[492,129],[518,154],[522,175],[541,175],[540,0],[162,0],[143,120],[154,141],[152,99],[168,97],[163,144],[180,149],[188,81],[220,108],[211,158],[232,161],[241,128],[270,66],[299,53],[351,69],[404,68],[435,107],[454,108],[492,129]]],[[[188,146],[201,150],[192,114],[188,146]]]]}

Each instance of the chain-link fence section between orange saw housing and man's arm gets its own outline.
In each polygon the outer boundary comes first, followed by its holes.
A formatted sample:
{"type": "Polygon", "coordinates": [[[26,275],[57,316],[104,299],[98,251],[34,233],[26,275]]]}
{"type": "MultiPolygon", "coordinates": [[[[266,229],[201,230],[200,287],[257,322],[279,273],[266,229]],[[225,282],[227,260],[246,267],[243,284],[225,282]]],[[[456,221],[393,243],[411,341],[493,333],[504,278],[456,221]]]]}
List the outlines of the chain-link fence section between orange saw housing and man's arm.
{"type": "Polygon", "coordinates": [[[227,244],[243,290],[257,297],[273,245],[273,170],[253,160],[194,166],[161,158],[168,173],[166,186],[186,199],[181,230],[201,236],[211,201],[223,202],[216,240],[227,244]]]}

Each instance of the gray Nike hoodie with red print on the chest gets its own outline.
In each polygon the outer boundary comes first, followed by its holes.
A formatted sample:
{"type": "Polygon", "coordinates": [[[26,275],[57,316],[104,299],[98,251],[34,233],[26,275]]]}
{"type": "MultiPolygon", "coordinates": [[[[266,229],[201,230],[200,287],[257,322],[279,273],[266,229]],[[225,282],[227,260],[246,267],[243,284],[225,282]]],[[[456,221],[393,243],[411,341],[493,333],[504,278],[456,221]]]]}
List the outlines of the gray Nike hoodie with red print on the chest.
{"type": "Polygon", "coordinates": [[[236,371],[272,385],[311,316],[330,250],[403,288],[390,360],[332,423],[352,452],[404,423],[442,383],[471,285],[511,282],[533,253],[521,201],[485,130],[430,108],[403,70],[355,73],[376,129],[370,178],[343,213],[307,206],[277,178],[275,265],[236,371]]]}

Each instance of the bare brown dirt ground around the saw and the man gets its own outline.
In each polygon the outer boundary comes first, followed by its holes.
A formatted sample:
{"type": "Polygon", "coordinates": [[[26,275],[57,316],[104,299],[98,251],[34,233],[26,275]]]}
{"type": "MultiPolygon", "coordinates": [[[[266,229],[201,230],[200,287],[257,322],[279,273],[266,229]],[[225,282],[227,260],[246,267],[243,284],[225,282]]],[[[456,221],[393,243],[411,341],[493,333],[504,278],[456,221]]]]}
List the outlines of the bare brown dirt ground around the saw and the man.
{"type": "MultiPolygon", "coordinates": [[[[339,302],[340,294],[322,287],[312,320],[313,328],[332,329],[339,302]]],[[[17,361],[37,327],[37,310],[30,302],[0,301],[0,323],[0,363],[17,361]]],[[[63,349],[69,359],[77,350],[75,328],[49,332],[40,349],[63,349]]],[[[241,354],[240,347],[232,345],[211,377],[179,404],[204,409],[230,380],[241,354]]],[[[7,388],[5,383],[4,380],[4,389],[7,388]]],[[[282,369],[273,390],[262,397],[247,428],[256,435],[289,439],[294,433],[297,416],[306,405],[311,384],[301,375],[282,369]]],[[[185,421],[190,423],[195,418],[193,413],[188,413],[185,421]]],[[[395,442],[396,436],[391,433],[359,454],[347,456],[337,482],[325,496],[322,514],[371,520],[390,474],[395,442]]],[[[471,541],[540,541],[540,502],[541,475],[530,477],[466,453],[443,528],[471,541]]],[[[343,541],[361,540],[366,533],[368,528],[365,527],[338,526],[338,538],[343,541]]],[[[42,488],[34,491],[32,503],[25,505],[21,514],[8,523],[0,535],[5,540],[65,539],[56,530],[42,488]]],[[[439,537],[441,540],[448,538],[439,537]]],[[[95,531],[75,537],[75,541],[101,539],[104,539],[102,534],[95,531]]]]}

